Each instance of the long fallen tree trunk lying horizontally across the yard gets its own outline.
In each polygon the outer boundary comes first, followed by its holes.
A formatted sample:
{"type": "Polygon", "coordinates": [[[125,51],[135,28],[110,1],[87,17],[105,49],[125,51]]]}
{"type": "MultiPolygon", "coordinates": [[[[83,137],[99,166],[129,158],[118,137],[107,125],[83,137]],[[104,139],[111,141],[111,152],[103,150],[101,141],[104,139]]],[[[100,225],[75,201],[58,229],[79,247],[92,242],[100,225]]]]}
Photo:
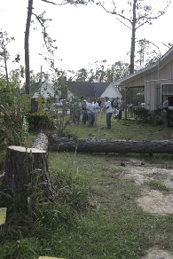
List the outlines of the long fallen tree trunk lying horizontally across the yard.
{"type": "Polygon", "coordinates": [[[173,141],[51,137],[49,150],[87,153],[173,153],[173,141]]]}

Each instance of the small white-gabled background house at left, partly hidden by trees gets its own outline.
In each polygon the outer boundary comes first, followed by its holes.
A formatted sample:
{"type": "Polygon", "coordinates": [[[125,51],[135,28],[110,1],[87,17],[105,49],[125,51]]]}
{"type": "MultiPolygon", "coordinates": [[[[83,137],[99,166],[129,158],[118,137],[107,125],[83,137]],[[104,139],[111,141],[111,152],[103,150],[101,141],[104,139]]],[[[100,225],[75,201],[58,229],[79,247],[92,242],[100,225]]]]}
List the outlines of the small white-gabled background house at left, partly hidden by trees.
{"type": "MultiPolygon", "coordinates": [[[[20,92],[20,95],[25,93],[25,88],[20,92]]],[[[29,93],[32,95],[32,98],[54,98],[55,90],[51,87],[51,83],[44,82],[33,82],[30,84],[29,93]]]]}

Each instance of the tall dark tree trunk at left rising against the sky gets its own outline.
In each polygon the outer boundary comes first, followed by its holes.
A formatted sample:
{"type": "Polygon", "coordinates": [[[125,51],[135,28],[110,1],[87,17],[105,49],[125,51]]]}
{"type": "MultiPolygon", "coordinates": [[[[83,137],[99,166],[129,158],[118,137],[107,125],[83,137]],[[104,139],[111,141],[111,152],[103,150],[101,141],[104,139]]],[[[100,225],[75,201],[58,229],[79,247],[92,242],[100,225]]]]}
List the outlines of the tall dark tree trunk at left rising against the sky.
{"type": "Polygon", "coordinates": [[[25,70],[26,70],[26,94],[29,94],[30,86],[30,64],[29,64],[29,30],[31,24],[31,16],[33,10],[33,0],[28,0],[28,18],[25,31],[25,70]]]}

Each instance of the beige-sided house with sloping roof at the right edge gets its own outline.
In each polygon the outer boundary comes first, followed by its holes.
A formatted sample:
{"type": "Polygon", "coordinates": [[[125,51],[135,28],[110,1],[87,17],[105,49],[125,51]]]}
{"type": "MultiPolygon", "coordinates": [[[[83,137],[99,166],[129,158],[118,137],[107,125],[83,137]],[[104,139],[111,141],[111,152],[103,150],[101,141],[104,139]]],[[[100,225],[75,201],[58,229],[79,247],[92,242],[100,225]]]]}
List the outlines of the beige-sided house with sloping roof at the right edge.
{"type": "Polygon", "coordinates": [[[166,95],[169,107],[173,108],[173,47],[153,65],[114,82],[114,85],[125,88],[128,106],[144,103],[145,109],[153,111],[161,106],[162,97],[166,95]]]}

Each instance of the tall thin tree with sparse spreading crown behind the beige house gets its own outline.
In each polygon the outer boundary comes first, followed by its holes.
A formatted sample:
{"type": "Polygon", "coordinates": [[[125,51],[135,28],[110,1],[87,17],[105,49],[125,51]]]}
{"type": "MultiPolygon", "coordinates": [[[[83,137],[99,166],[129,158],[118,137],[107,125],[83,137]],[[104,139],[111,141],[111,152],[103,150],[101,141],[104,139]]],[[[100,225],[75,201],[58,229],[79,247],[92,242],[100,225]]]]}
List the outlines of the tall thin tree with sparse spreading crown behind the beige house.
{"type": "Polygon", "coordinates": [[[171,0],[131,0],[127,1],[126,5],[122,1],[111,1],[111,4],[109,1],[96,3],[131,30],[130,74],[134,73],[137,29],[145,24],[151,25],[153,20],[167,12],[170,3],[171,0]]]}

